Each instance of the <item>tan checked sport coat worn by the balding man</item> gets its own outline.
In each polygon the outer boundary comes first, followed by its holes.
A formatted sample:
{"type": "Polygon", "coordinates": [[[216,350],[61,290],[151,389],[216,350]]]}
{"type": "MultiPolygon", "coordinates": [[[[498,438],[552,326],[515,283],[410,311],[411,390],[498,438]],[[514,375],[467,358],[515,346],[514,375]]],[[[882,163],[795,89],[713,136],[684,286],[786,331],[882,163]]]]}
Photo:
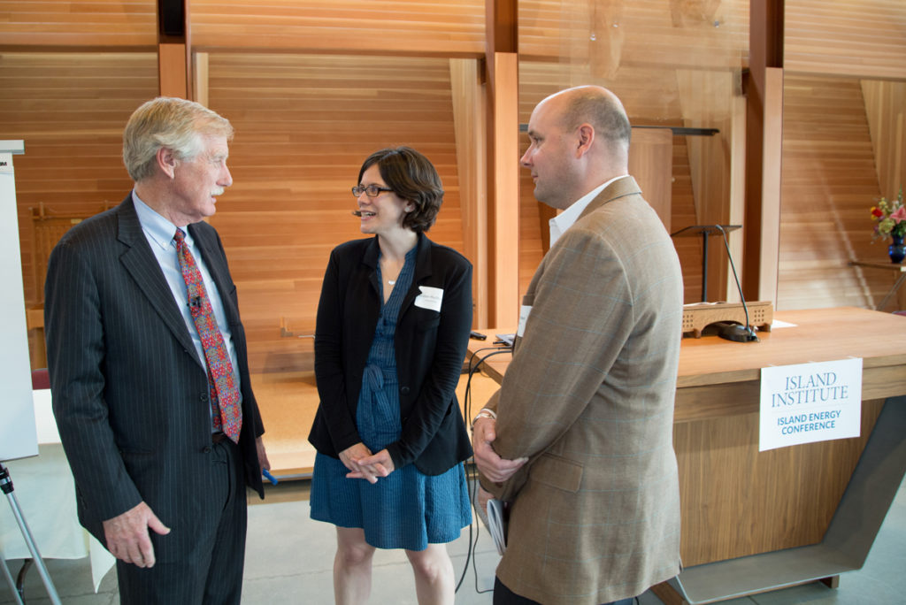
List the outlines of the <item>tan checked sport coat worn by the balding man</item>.
{"type": "Polygon", "coordinates": [[[679,571],[672,445],[682,276],[635,180],[606,187],[535,272],[496,408],[500,456],[529,456],[497,576],[545,605],[633,597],[679,571]]]}

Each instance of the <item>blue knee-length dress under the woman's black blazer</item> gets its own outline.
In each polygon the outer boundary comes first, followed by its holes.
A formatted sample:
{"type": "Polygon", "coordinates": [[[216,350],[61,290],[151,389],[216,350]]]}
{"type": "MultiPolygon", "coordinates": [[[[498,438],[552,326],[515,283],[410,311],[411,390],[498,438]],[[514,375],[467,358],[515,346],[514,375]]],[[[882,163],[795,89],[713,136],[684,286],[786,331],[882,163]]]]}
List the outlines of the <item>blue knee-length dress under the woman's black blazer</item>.
{"type": "MultiPolygon", "coordinates": [[[[406,254],[393,292],[381,303],[356,412],[359,436],[372,452],[400,438],[400,393],[393,337],[400,305],[415,274],[413,248],[406,254]]],[[[380,264],[378,278],[383,301],[380,264]]],[[[448,543],[472,523],[466,475],[461,464],[442,475],[424,475],[415,465],[395,469],[372,485],[347,479],[342,462],[318,453],[312,476],[311,516],[340,527],[361,527],[376,548],[423,551],[429,543],[448,543]]]]}

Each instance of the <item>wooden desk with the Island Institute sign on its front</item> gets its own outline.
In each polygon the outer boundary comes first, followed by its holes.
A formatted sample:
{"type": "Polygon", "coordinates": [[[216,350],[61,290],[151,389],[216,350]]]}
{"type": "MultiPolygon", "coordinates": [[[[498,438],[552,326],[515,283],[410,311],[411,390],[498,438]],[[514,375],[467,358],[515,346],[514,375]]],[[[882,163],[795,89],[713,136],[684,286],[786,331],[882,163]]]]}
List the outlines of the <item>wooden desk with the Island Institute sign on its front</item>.
{"type": "MultiPolygon", "coordinates": [[[[795,327],[760,342],[682,341],[673,445],[684,570],[658,587],[665,602],[859,569],[906,472],[906,317],[847,307],[775,320],[795,327]],[[761,368],[847,357],[863,359],[862,436],[759,453],[761,368]]],[[[508,359],[487,360],[487,373],[500,379],[508,359]]]]}

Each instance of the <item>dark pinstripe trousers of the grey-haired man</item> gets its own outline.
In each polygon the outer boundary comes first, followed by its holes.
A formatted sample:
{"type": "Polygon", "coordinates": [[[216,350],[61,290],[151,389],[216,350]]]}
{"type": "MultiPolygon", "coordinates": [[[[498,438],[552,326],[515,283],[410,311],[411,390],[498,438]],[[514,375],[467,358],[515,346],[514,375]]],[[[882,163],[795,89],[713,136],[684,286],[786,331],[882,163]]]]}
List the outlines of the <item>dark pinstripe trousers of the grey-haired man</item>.
{"type": "MultiPolygon", "coordinates": [[[[151,532],[155,556],[160,554],[154,567],[143,569],[117,561],[123,605],[239,603],[246,558],[242,459],[239,448],[229,439],[212,448],[208,476],[185,478],[207,484],[204,493],[208,497],[196,508],[197,514],[178,523],[161,519],[170,528],[168,535],[151,532]],[[180,525],[193,527],[198,539],[181,539],[180,525]]],[[[179,494],[179,485],[174,485],[173,497],[178,498],[179,494]]]]}

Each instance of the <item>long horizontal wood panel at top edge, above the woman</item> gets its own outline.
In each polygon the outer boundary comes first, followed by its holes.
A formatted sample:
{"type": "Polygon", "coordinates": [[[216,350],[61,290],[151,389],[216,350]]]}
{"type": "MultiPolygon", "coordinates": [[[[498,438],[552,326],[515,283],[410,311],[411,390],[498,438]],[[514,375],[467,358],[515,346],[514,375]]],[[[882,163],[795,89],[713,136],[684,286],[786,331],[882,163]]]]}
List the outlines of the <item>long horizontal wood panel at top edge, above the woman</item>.
{"type": "Polygon", "coordinates": [[[480,0],[192,0],[198,50],[255,48],[331,53],[485,53],[480,0]]]}

